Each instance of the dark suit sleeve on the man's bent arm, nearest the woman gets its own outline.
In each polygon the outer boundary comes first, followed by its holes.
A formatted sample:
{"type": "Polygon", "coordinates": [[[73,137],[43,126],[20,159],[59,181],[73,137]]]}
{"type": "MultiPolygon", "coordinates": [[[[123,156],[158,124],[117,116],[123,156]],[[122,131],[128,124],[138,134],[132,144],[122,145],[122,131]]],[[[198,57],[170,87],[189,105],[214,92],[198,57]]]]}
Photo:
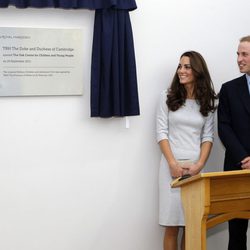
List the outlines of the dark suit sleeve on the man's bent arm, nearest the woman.
{"type": "Polygon", "coordinates": [[[227,88],[225,85],[222,85],[218,105],[218,134],[230,158],[235,164],[239,164],[248,154],[232,128],[232,114],[229,100],[230,97],[227,88]]]}

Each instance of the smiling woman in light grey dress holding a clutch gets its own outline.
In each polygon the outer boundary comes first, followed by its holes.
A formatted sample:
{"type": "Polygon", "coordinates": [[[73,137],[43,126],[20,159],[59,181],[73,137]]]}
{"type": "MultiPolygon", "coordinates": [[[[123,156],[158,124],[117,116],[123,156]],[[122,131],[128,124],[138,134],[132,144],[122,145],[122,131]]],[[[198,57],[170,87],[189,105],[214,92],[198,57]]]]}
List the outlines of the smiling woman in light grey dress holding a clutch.
{"type": "MultiPolygon", "coordinates": [[[[164,250],[178,249],[179,229],[184,229],[180,189],[173,178],[198,174],[213,143],[216,94],[203,57],[188,51],[180,62],[168,91],[161,94],[157,110],[157,141],[162,151],[159,224],[166,227],[164,250]]],[[[185,249],[184,232],[181,249],[185,249]]]]}

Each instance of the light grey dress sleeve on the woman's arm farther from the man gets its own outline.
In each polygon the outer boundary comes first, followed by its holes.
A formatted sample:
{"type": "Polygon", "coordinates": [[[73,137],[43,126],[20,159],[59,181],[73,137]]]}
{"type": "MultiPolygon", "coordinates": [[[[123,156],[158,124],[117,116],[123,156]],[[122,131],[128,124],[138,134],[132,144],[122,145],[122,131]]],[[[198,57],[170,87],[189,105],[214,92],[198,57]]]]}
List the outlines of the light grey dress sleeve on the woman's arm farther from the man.
{"type": "Polygon", "coordinates": [[[162,91],[156,112],[156,140],[168,139],[168,107],[166,104],[167,91],[162,91]]]}

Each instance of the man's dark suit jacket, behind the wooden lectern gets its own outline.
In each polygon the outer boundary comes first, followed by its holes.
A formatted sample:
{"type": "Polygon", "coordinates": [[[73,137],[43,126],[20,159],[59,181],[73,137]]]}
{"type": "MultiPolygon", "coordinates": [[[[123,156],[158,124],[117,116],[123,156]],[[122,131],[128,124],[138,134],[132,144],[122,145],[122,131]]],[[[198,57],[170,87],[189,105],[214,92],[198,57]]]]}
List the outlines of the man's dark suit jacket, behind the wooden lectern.
{"type": "Polygon", "coordinates": [[[241,169],[240,162],[250,156],[250,94],[245,75],[221,87],[218,133],[226,150],[224,170],[241,169]]]}

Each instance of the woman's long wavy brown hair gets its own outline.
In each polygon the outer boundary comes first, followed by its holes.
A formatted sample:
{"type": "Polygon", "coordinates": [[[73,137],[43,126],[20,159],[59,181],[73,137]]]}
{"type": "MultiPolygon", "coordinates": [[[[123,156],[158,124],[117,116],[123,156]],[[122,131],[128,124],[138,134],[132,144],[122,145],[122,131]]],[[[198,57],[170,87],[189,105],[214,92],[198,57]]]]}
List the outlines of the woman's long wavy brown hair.
{"type": "MultiPolygon", "coordinates": [[[[207,64],[202,55],[196,51],[187,51],[181,55],[190,59],[190,65],[195,77],[194,97],[200,105],[200,112],[203,116],[208,116],[209,112],[216,109],[215,100],[217,96],[207,68],[207,64]]],[[[187,91],[183,84],[180,84],[177,70],[167,93],[167,106],[171,111],[178,110],[184,105],[187,98],[187,91]]]]}

